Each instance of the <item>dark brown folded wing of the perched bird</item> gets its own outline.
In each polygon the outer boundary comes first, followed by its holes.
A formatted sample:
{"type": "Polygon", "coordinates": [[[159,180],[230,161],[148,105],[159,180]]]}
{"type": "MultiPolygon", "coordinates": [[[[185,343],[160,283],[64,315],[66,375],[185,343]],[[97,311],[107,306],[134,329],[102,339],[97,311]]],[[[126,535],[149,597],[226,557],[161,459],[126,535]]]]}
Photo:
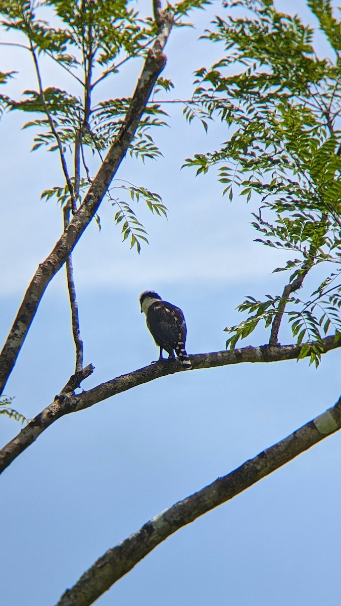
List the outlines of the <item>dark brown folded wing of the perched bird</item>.
{"type": "Polygon", "coordinates": [[[150,305],[147,324],[158,345],[169,344],[173,347],[178,341],[186,341],[186,322],[178,307],[167,301],[155,301],[150,305]]]}

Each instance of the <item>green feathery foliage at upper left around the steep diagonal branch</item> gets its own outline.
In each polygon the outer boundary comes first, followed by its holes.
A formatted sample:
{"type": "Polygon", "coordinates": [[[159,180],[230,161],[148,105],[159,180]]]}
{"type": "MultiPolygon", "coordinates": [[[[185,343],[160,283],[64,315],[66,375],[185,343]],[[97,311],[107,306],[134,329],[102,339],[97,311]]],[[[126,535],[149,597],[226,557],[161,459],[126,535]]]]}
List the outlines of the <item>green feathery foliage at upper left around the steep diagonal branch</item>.
{"type": "MultiPolygon", "coordinates": [[[[180,2],[176,14],[184,15],[192,5],[204,3],[190,0],[185,7],[180,2]]],[[[32,56],[38,79],[37,90],[25,90],[20,99],[0,97],[0,112],[8,108],[30,115],[24,128],[36,130],[32,150],[44,147],[56,151],[66,180],[65,186],[49,188],[41,197],[56,198],[61,205],[71,201],[75,210],[92,181],[87,153],[103,161],[103,151],[120,136],[130,107],[130,98],[98,100],[95,90],[117,75],[127,61],[146,58],[157,24],[149,17],[141,19],[129,0],[0,0],[0,19],[5,30],[15,30],[24,37],[24,44],[18,45],[32,56]],[[72,90],[58,85],[44,87],[41,55],[67,70],[75,84],[72,90]]],[[[11,75],[1,74],[0,83],[11,75]]],[[[172,87],[169,79],[159,78],[154,95],[172,87]]],[[[159,104],[147,106],[130,144],[130,156],[144,162],[161,155],[151,131],[166,124],[165,116],[159,104]]],[[[143,198],[152,212],[166,214],[156,194],[135,187],[134,196],[143,198]]],[[[126,202],[115,203],[122,204],[115,222],[123,221],[124,239],[130,236],[131,245],[140,251],[140,241],[147,241],[143,236],[146,231],[126,202]]]]}

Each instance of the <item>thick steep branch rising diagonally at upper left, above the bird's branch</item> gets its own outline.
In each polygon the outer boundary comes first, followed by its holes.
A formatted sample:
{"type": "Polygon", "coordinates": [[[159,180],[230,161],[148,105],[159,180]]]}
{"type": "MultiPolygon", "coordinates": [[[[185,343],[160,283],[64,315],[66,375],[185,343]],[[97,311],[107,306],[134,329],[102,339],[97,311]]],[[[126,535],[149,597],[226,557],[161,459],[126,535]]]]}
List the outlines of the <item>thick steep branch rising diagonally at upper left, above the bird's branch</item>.
{"type": "Polygon", "coordinates": [[[0,394],[3,392],[8,376],[10,376],[10,373],[13,370],[19,351],[25,341],[25,337],[32,324],[39,302],[41,301],[47,285],[64,262],[66,262],[66,259],[69,257],[79,238],[83,234],[83,231],[86,229],[87,225],[89,225],[93,216],[95,216],[113,176],[126,155],[126,151],[135,135],[141,116],[146,108],[150,93],[166,64],[166,56],[163,54],[163,48],[171,28],[172,18],[170,15],[165,16],[160,27],[160,32],[144,62],[141,76],[138,80],[135,92],[133,93],[120,132],[110,147],[100,170],[98,170],[98,173],[84,198],[83,204],[81,204],[76,211],[72,221],[70,221],[69,226],[64,231],[61,238],[59,238],[50,255],[39,265],[29,288],[27,288],[18,315],[16,316],[0,356],[0,394]]]}

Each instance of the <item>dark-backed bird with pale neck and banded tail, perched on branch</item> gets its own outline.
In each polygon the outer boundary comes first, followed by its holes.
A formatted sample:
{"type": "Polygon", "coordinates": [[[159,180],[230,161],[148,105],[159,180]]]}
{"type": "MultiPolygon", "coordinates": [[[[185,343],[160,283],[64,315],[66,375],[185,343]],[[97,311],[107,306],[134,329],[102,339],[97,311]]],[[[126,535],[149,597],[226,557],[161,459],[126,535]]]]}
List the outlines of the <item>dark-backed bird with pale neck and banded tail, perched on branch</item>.
{"type": "Polygon", "coordinates": [[[141,293],[140,305],[141,313],[144,311],[146,314],[147,327],[154,336],[155,343],[160,347],[159,360],[163,360],[163,349],[169,353],[169,358],[174,358],[175,351],[183,368],[192,368],[184,348],[187,328],[181,309],[163,301],[154,290],[145,290],[141,293]]]}

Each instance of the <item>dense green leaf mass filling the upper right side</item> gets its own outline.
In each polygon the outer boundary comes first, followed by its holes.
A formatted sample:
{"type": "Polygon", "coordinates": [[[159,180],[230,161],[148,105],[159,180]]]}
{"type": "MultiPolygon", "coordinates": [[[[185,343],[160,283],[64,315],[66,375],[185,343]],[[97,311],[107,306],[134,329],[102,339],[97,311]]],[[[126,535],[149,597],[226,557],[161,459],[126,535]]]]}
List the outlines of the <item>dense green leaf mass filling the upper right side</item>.
{"type": "MultiPolygon", "coordinates": [[[[195,167],[197,175],[216,167],[230,201],[238,191],[257,204],[252,213],[256,241],[295,253],[285,267],[275,269],[294,270],[289,291],[300,288],[317,264],[327,262],[328,271],[341,259],[340,22],[328,0],[308,5],[333,58],[319,58],[312,28],[298,16],[277,12],[272,0],[226,1],[228,16],[217,17],[214,28],[204,34],[222,42],[226,55],[211,68],[197,70],[194,108],[186,115],[191,121],[195,112],[206,112],[225,126],[221,147],[187,158],[186,165],[195,167]]],[[[335,297],[328,304],[333,308],[328,318],[339,330],[335,297]]],[[[238,309],[253,314],[251,301],[238,309]]],[[[255,316],[234,327],[228,345],[234,347],[249,335],[260,319],[269,327],[276,315],[282,317],[288,302],[280,295],[257,302],[255,316]]],[[[316,305],[325,309],[326,302],[316,305]]],[[[316,305],[305,307],[302,302],[300,311],[286,316],[291,326],[297,322],[294,336],[299,342],[303,336],[321,338],[316,305]]],[[[323,326],[327,319],[323,316],[323,326]]],[[[319,358],[318,352],[312,355],[313,361],[319,358]]]]}

